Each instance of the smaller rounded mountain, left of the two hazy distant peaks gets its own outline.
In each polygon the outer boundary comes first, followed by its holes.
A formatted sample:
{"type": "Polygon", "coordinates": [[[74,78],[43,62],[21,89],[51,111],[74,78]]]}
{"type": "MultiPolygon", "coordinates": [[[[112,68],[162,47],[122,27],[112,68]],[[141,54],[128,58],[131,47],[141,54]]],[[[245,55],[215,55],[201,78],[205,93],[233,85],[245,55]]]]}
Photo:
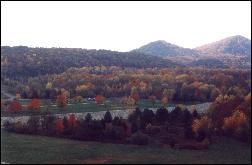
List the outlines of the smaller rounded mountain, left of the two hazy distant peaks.
{"type": "Polygon", "coordinates": [[[174,57],[174,56],[197,56],[196,50],[183,48],[163,40],[151,42],[147,45],[141,46],[138,49],[132,51],[141,52],[149,55],[155,55],[160,57],[174,57]]]}

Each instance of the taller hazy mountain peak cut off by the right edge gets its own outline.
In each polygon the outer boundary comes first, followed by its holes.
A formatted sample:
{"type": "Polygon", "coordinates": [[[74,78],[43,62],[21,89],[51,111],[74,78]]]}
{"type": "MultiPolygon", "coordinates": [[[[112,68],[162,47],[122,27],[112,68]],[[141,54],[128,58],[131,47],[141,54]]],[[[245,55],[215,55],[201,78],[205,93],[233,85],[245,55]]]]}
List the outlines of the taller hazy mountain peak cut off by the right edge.
{"type": "Polygon", "coordinates": [[[251,57],[251,40],[237,35],[195,48],[213,56],[233,55],[251,57]]]}

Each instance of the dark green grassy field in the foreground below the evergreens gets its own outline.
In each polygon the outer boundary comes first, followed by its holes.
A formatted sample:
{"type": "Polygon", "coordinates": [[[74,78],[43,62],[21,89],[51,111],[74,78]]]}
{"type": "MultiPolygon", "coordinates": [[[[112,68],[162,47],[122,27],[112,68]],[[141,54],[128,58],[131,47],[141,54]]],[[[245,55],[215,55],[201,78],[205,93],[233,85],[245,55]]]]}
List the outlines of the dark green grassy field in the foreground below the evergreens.
{"type": "Polygon", "coordinates": [[[251,164],[251,147],[222,137],[208,150],[174,150],[21,135],[2,130],[1,162],[251,164]]]}

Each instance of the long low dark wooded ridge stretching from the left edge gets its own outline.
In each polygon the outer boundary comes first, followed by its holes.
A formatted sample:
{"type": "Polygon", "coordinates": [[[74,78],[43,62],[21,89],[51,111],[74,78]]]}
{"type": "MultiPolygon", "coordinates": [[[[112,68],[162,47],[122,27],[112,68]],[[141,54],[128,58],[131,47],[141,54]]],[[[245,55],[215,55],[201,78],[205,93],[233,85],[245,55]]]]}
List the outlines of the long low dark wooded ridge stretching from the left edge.
{"type": "Polygon", "coordinates": [[[19,79],[44,74],[58,74],[70,67],[81,68],[84,66],[166,68],[181,65],[138,52],[1,46],[1,76],[19,79]]]}

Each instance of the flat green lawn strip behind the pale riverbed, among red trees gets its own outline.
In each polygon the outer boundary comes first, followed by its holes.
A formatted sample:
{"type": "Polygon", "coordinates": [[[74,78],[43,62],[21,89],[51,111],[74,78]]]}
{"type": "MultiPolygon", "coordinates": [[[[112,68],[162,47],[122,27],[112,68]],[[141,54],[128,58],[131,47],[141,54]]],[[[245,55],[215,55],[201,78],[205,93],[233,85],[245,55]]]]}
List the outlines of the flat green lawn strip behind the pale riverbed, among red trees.
{"type": "MultiPolygon", "coordinates": [[[[42,100],[43,101],[43,100],[42,100]]],[[[30,99],[21,99],[20,103],[23,107],[25,107],[30,102],[30,99]]],[[[188,103],[187,103],[188,104],[188,103]]],[[[175,103],[169,103],[168,106],[174,106],[175,103]]],[[[158,108],[161,107],[160,101],[157,101],[156,104],[153,106],[149,100],[143,99],[140,100],[137,105],[139,108],[158,108]]],[[[20,116],[20,115],[38,115],[41,112],[48,111],[50,113],[81,113],[81,112],[98,112],[98,111],[107,111],[107,110],[124,110],[127,109],[124,105],[121,104],[119,99],[107,99],[105,105],[98,105],[92,101],[84,101],[82,103],[70,103],[65,108],[59,108],[55,103],[49,104],[49,106],[42,104],[40,107],[40,111],[37,110],[27,110],[24,109],[12,114],[10,112],[1,112],[1,116],[20,116]]],[[[135,107],[133,107],[135,108],[135,107]]]]}

